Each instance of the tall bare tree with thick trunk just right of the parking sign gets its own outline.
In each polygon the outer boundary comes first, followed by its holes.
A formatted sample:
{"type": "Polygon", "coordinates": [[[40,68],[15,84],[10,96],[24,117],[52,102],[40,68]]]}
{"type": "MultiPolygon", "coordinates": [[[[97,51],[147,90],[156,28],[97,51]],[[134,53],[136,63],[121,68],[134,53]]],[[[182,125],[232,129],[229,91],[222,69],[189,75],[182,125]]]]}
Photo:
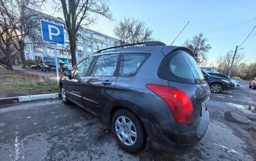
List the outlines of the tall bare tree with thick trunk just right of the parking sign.
{"type": "Polygon", "coordinates": [[[62,10],[65,19],[65,29],[68,34],[72,66],[76,65],[76,41],[81,26],[94,24],[97,16],[112,20],[109,7],[104,0],[54,0],[56,10],[62,10]]]}

